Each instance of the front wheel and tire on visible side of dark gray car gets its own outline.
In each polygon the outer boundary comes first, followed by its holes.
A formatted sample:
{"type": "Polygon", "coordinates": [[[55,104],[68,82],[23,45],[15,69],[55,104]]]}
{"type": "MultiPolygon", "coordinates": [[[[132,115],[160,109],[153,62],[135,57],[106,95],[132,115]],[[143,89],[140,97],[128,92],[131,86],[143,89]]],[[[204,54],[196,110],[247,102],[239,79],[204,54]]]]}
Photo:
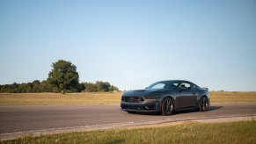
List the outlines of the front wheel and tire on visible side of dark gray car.
{"type": "Polygon", "coordinates": [[[161,104],[162,115],[172,115],[174,110],[174,104],[171,97],[166,97],[161,104]]]}

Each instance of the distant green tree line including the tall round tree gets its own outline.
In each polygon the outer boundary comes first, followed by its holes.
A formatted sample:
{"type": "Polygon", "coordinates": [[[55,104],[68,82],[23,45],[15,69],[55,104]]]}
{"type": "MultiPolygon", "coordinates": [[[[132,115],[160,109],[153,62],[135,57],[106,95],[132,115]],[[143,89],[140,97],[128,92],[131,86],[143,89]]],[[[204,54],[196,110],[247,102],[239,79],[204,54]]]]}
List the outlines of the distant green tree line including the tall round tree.
{"type": "Polygon", "coordinates": [[[0,85],[0,92],[106,92],[118,91],[116,86],[108,82],[79,83],[77,67],[70,61],[59,60],[53,63],[53,69],[48,73],[48,79],[32,83],[12,83],[0,85]]]}

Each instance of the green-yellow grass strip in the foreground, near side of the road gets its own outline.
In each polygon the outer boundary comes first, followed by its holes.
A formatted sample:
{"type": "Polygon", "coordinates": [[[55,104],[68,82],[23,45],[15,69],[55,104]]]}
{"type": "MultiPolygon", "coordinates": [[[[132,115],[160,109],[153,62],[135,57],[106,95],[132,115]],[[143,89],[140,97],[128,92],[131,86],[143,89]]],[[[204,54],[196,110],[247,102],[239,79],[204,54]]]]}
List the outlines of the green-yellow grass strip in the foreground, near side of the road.
{"type": "Polygon", "coordinates": [[[62,133],[1,143],[248,143],[256,141],[256,122],[186,123],[133,129],[62,133]]]}

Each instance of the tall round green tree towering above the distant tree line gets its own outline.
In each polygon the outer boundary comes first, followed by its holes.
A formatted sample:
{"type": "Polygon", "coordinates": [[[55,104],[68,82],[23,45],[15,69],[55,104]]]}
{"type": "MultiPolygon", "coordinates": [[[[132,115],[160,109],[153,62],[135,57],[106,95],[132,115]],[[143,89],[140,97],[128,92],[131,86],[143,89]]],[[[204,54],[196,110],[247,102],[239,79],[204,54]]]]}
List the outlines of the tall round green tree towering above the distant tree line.
{"type": "Polygon", "coordinates": [[[48,82],[55,87],[55,92],[65,93],[79,90],[79,75],[77,67],[70,61],[59,60],[53,63],[53,69],[48,74],[48,82]]]}

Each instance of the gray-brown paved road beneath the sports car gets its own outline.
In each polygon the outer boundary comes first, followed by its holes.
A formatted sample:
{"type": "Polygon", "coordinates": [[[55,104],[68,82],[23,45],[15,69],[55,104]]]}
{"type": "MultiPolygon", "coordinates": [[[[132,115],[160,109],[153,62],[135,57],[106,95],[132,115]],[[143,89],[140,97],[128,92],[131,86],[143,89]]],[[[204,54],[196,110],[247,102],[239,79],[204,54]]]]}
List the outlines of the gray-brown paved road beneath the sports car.
{"type": "Polygon", "coordinates": [[[212,104],[208,112],[184,110],[172,116],[128,114],[119,105],[1,106],[0,134],[47,130],[70,126],[92,126],[145,121],[210,119],[255,116],[255,103],[212,104]]]}

